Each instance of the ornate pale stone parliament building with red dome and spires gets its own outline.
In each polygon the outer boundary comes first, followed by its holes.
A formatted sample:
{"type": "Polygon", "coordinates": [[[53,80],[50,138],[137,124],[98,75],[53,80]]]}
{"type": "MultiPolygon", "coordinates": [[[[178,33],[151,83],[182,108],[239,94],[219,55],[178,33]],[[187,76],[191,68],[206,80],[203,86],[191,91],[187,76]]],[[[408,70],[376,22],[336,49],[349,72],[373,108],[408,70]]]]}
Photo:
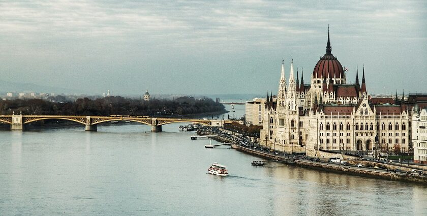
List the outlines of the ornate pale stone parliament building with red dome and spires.
{"type": "Polygon", "coordinates": [[[308,156],[319,157],[319,149],[353,153],[385,153],[410,149],[411,106],[404,100],[372,99],[361,85],[356,69],[354,84],[347,84],[346,69],[331,53],[316,65],[309,85],[295,82],[293,60],[288,83],[282,61],[279,90],[268,96],[264,105],[260,141],[268,147],[304,147],[308,156]],[[273,98],[275,100],[273,100],[273,98]],[[276,102],[275,102],[276,101],[276,102]],[[391,103],[390,103],[391,102],[391,103]]]}

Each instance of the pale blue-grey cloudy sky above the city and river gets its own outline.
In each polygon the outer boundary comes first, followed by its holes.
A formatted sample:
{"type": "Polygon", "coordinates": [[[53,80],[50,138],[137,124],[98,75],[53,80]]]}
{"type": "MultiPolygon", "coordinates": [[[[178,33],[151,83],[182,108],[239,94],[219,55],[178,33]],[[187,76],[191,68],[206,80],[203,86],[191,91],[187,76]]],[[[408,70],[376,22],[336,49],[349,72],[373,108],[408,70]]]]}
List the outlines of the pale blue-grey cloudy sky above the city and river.
{"type": "Polygon", "coordinates": [[[427,93],[425,23],[426,1],[0,0],[0,80],[89,95],[266,94],[282,58],[287,79],[293,58],[309,82],[329,24],[347,83],[364,66],[371,94],[427,93]]]}

